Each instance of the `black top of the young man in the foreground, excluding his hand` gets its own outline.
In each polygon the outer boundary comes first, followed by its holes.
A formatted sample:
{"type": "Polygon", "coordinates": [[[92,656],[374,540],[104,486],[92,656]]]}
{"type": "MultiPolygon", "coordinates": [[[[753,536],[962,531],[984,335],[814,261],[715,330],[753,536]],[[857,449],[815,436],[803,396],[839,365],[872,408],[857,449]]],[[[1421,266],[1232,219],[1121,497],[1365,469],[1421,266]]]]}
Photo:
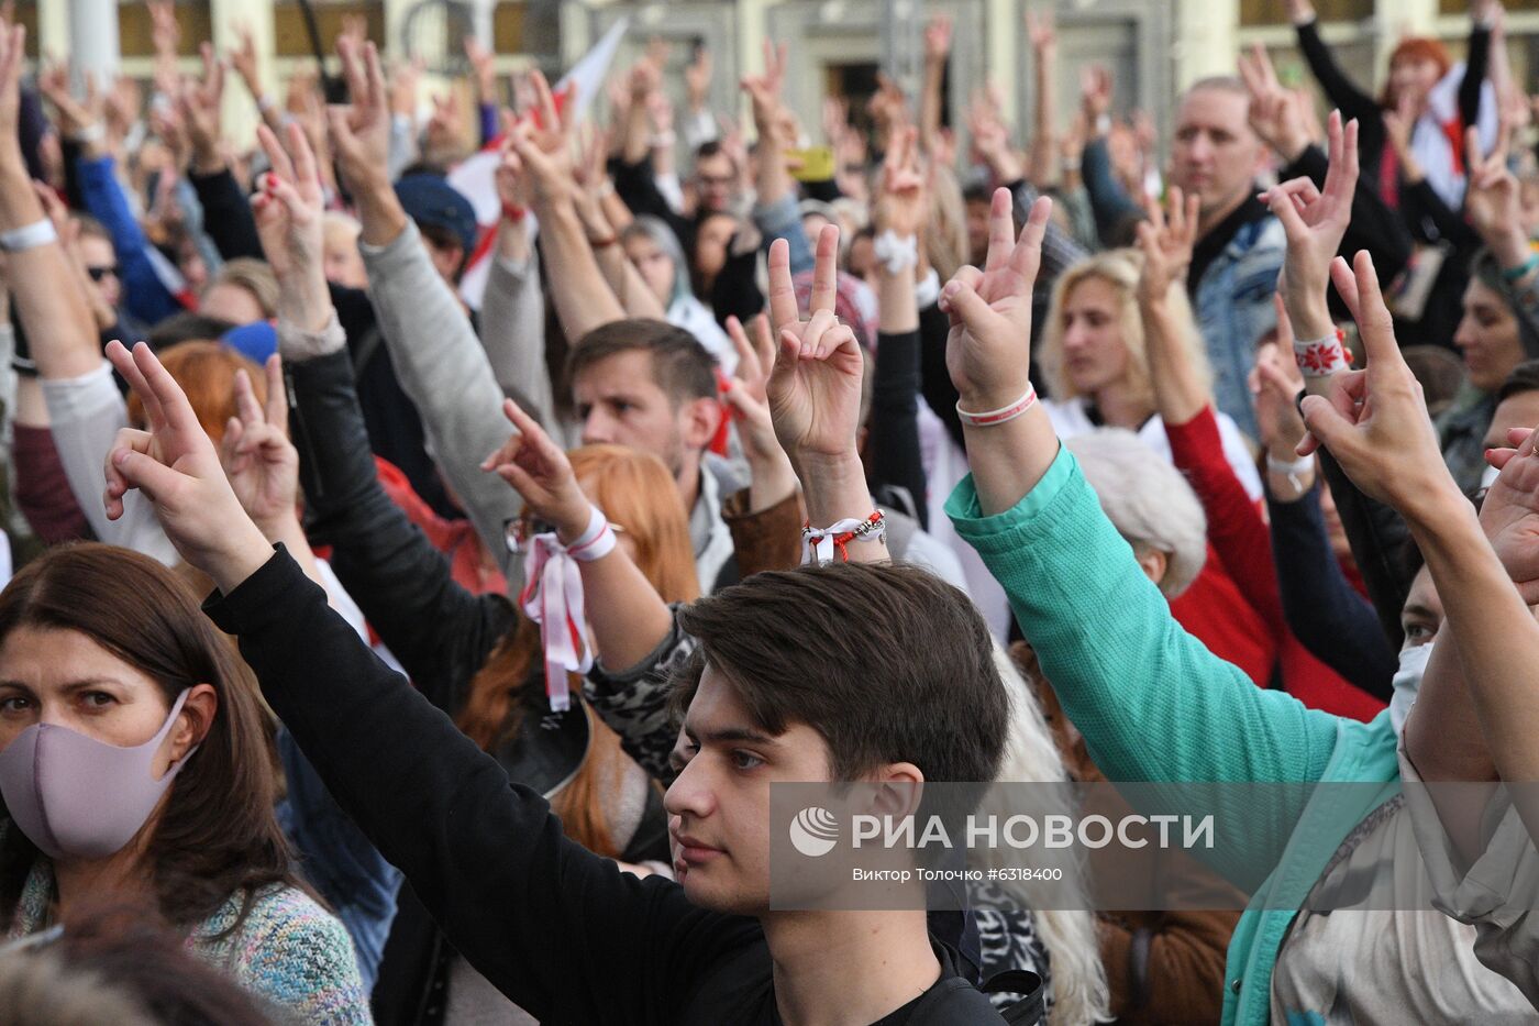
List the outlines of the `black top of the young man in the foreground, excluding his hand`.
{"type": "MultiPolygon", "coordinates": [[[[282,548],[205,605],[240,639],[272,710],[445,935],[546,1026],[774,1026],[759,923],[691,904],[566,840],[545,800],[386,669],[282,548]]],[[[956,983],[882,1026],[1000,1023],[956,983]]],[[[926,997],[930,997],[926,994],[926,997]]],[[[920,998],[923,1001],[923,998],[920,998]]]]}

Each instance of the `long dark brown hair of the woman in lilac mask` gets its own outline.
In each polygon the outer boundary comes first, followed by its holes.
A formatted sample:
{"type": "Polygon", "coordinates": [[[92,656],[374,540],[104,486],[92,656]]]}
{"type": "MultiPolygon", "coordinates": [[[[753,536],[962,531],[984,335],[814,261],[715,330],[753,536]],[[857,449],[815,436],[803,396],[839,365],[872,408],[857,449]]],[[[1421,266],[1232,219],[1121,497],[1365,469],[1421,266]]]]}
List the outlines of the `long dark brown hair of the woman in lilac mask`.
{"type": "MultiPolygon", "coordinates": [[[[259,889],[300,886],[272,810],[272,735],[255,681],[171,570],[112,545],[54,548],[0,592],[0,644],[23,625],[80,632],[159,682],[168,706],[194,684],[219,693],[208,735],[172,783],[145,852],[168,923],[195,926],[243,892],[232,934],[259,889]]],[[[5,832],[0,920],[15,915],[42,857],[20,830],[5,832]]]]}

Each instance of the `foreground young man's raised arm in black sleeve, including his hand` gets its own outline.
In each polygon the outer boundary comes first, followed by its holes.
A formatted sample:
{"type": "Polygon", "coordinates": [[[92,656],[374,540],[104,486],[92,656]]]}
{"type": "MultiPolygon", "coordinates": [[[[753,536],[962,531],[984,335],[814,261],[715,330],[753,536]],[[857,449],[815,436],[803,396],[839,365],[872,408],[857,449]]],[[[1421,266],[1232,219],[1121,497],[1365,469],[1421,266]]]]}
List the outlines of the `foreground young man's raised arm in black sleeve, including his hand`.
{"type": "Polygon", "coordinates": [[[456,949],[540,1020],[677,1021],[700,967],[760,937],[757,927],[568,841],[539,795],[509,787],[494,758],[385,669],[274,553],[149,347],[111,354],[152,427],[114,451],[109,507],[128,487],[154,496],[179,552],[220,588],[209,615],[240,638],[272,710],[456,949]],[[594,932],[596,921],[605,929],[594,932]]]}

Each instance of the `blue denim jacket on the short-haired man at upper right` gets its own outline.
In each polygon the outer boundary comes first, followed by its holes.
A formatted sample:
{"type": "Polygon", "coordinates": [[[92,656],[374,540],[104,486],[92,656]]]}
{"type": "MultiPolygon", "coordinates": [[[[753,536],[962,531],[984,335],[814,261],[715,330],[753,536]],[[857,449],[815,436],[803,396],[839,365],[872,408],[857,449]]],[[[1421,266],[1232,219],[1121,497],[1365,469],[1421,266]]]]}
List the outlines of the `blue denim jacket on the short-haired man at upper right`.
{"type": "Polygon", "coordinates": [[[1219,410],[1251,438],[1257,438],[1256,410],[1245,382],[1256,365],[1256,342],[1277,324],[1271,294],[1287,245],[1276,217],[1244,225],[1207,267],[1193,293],[1219,410]]]}

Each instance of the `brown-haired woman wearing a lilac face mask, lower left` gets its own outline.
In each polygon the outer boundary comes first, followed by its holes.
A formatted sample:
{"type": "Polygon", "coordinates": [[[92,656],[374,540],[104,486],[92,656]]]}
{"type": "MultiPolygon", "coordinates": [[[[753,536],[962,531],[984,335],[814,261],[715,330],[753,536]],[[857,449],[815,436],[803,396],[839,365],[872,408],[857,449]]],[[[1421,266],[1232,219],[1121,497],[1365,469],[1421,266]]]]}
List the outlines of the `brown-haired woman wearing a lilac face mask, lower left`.
{"type": "Polygon", "coordinates": [[[172,573],[55,548],[0,593],[0,918],[151,901],[188,947],[303,1021],[366,1023],[346,930],[272,813],[255,686],[172,573]]]}

